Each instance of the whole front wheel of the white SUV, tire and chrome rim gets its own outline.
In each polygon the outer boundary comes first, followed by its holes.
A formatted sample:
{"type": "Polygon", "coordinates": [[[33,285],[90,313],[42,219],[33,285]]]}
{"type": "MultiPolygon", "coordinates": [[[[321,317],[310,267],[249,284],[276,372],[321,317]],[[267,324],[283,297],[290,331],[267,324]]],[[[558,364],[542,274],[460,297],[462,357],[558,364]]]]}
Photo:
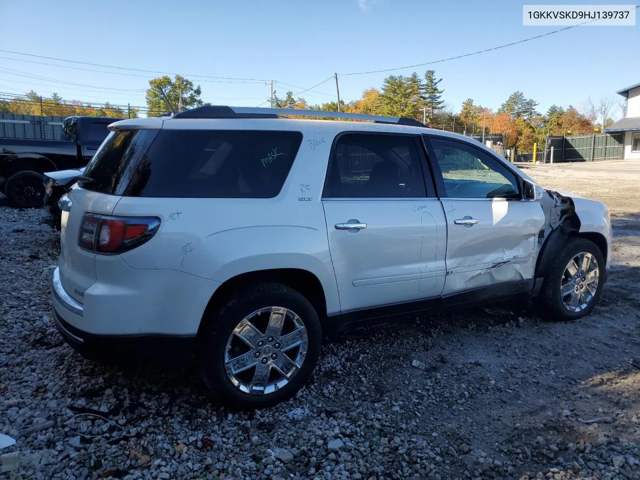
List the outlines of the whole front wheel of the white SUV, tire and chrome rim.
{"type": "Polygon", "coordinates": [[[576,320],[591,313],[602,294],[605,259],[590,240],[570,237],[545,277],[540,294],[545,317],[576,320]]]}

